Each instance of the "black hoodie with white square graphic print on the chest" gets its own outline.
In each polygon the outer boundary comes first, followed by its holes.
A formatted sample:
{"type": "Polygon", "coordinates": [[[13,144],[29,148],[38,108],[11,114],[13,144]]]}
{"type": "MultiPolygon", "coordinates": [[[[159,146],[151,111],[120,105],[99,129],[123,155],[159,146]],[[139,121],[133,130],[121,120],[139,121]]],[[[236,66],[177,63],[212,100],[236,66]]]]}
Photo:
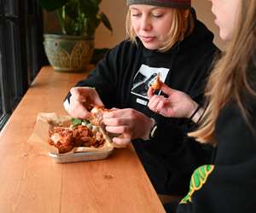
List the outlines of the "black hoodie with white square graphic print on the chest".
{"type": "Polygon", "coordinates": [[[164,118],[150,111],[145,93],[160,72],[168,86],[201,104],[209,67],[218,50],[212,39],[212,32],[196,20],[194,32],[164,53],[145,49],[139,39],[137,44],[125,40],[77,84],[95,87],[105,107],[135,108],[156,120],[154,140],[135,140],[133,145],[157,193],[184,194],[193,170],[207,162],[201,146],[186,136],[189,120],[164,118]]]}

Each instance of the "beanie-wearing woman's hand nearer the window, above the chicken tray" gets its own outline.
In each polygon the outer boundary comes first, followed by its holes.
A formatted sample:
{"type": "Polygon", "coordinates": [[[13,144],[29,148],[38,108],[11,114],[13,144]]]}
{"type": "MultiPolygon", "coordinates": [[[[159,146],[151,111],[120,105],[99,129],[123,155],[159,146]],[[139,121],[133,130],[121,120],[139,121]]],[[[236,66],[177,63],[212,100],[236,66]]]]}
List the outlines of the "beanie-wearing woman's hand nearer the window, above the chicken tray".
{"type": "Polygon", "coordinates": [[[88,108],[99,106],[104,107],[96,89],[90,87],[74,87],[70,89],[68,113],[73,118],[86,119],[90,117],[88,108]]]}

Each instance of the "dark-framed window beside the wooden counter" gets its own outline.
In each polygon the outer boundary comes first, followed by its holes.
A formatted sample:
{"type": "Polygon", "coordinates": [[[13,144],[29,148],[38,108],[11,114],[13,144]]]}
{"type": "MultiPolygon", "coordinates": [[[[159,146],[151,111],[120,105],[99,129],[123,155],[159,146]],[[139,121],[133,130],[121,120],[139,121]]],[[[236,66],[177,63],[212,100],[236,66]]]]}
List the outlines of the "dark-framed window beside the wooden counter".
{"type": "Polygon", "coordinates": [[[0,130],[45,64],[38,1],[0,0],[0,130]]]}

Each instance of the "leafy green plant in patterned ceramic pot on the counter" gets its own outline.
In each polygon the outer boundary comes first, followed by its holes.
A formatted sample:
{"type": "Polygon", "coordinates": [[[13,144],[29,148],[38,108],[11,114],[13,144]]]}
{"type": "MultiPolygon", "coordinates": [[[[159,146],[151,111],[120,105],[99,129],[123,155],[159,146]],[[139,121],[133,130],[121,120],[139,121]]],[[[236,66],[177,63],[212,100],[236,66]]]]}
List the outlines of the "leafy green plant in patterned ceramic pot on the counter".
{"type": "Polygon", "coordinates": [[[80,72],[90,62],[97,26],[102,22],[112,32],[102,0],[40,0],[47,11],[57,12],[61,34],[44,34],[49,63],[60,72],[80,72]]]}

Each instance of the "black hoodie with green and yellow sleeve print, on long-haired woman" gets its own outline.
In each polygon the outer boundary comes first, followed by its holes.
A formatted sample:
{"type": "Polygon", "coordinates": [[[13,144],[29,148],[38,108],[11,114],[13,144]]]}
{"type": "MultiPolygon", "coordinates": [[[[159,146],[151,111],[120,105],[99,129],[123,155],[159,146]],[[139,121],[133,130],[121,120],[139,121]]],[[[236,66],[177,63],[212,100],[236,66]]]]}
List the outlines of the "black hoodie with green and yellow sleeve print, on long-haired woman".
{"type": "MultiPolygon", "coordinates": [[[[256,91],[256,57],[254,61],[247,74],[256,91]]],[[[178,213],[256,212],[256,96],[243,92],[241,101],[247,120],[235,101],[219,112],[214,164],[195,170],[178,213]]]]}

